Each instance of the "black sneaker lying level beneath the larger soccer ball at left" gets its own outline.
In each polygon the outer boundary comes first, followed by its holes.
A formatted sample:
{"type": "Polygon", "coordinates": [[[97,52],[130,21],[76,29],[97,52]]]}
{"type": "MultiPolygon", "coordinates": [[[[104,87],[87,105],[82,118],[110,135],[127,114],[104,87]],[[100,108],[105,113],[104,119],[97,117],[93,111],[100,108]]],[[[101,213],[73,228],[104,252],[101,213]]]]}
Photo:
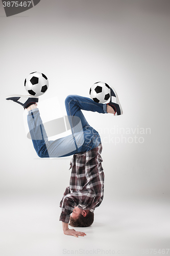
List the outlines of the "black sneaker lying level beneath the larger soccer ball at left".
{"type": "Polygon", "coordinates": [[[6,97],[6,99],[13,100],[14,102],[23,106],[24,109],[27,109],[30,105],[38,102],[38,96],[33,95],[9,95],[6,97]]]}

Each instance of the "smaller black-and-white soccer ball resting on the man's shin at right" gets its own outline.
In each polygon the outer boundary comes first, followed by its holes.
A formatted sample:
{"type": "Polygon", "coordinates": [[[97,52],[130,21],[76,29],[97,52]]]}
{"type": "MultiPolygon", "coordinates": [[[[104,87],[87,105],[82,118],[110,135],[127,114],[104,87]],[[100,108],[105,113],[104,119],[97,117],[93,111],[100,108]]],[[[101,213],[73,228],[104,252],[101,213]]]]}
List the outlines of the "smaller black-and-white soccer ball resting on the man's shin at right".
{"type": "Polygon", "coordinates": [[[105,103],[110,98],[110,87],[105,82],[95,82],[90,88],[90,97],[98,103],[105,103]]]}

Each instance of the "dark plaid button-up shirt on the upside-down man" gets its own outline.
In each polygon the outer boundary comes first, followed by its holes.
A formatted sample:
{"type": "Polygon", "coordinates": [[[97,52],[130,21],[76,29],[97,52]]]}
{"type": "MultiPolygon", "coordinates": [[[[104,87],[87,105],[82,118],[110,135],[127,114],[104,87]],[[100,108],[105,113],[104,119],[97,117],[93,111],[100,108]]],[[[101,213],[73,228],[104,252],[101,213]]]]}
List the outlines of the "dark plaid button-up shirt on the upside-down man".
{"type": "Polygon", "coordinates": [[[60,221],[69,222],[74,206],[80,209],[94,211],[103,200],[104,172],[102,168],[102,145],[85,153],[72,157],[70,162],[71,177],[69,187],[66,187],[60,202],[62,212],[60,221]]]}

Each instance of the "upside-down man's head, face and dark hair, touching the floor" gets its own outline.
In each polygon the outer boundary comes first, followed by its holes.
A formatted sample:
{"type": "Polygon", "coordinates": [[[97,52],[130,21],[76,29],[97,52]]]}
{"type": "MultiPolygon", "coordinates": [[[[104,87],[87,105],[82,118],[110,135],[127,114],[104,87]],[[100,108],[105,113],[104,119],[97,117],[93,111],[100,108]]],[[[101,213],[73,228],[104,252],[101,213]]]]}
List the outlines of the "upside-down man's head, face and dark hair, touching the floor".
{"type": "Polygon", "coordinates": [[[78,206],[72,211],[69,225],[72,227],[89,227],[94,220],[93,212],[82,210],[78,206]]]}

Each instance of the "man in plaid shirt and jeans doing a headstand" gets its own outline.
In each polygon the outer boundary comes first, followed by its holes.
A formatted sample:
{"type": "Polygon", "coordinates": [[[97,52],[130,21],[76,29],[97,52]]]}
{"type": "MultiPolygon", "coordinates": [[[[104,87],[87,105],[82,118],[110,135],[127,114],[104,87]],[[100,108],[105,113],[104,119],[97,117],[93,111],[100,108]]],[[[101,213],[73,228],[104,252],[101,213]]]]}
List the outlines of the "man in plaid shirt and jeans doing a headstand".
{"type": "Polygon", "coordinates": [[[81,110],[123,114],[117,94],[110,88],[111,97],[108,104],[96,103],[78,95],[69,95],[65,100],[68,120],[72,135],[49,141],[37,109],[38,97],[8,96],[28,111],[28,125],[37,155],[44,157],[64,157],[74,155],[70,162],[71,177],[60,202],[62,212],[60,221],[64,234],[85,236],[84,232],[69,229],[70,225],[87,227],[93,223],[93,211],[100,206],[104,196],[104,172],[102,168],[101,138],[85,119],[81,110]],[[71,217],[70,217],[71,215],[71,217]]]}

